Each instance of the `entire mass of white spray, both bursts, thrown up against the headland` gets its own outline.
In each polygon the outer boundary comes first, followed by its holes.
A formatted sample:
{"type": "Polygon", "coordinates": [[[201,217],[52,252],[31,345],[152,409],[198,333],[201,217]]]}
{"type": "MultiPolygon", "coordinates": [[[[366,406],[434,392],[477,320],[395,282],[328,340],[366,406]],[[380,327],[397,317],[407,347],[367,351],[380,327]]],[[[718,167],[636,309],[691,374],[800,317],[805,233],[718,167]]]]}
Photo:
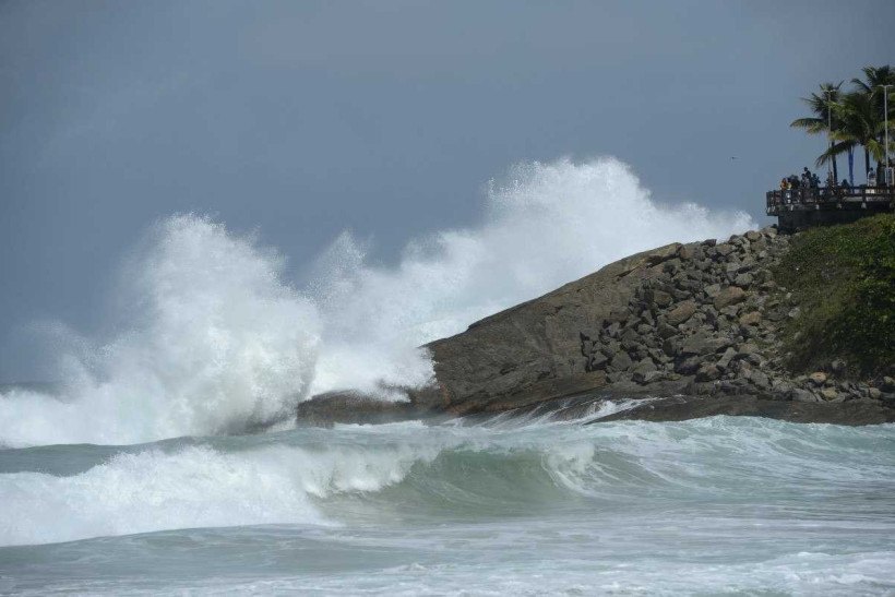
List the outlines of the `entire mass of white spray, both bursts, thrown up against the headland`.
{"type": "Polygon", "coordinates": [[[750,226],[742,213],[658,204],[616,159],[523,164],[489,184],[478,225],[414,239],[379,267],[344,234],[298,290],[254,238],[174,216],[124,272],[124,330],[63,355],[62,399],[3,396],[0,443],[240,431],[314,392],[420,385],[426,342],[632,252],[750,226]]]}

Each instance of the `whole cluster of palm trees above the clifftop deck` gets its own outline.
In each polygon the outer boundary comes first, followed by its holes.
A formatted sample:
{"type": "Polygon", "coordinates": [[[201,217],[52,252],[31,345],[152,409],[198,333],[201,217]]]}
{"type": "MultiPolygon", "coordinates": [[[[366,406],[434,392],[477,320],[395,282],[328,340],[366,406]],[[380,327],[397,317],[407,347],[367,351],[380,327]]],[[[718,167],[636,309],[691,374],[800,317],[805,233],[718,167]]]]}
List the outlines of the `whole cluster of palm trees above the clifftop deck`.
{"type": "MultiPolygon", "coordinates": [[[[884,85],[895,85],[895,70],[884,67],[866,67],[864,79],[852,79],[855,85],[849,93],[843,93],[838,84],[823,83],[820,94],[802,98],[813,116],[798,118],[790,127],[804,129],[809,134],[827,134],[830,147],[816,160],[818,166],[833,162],[833,172],[838,180],[836,157],[851,155],[856,147],[863,147],[864,175],[870,171],[870,158],[876,160],[876,167],[885,158],[884,129],[886,117],[895,121],[895,87],[888,87],[888,115],[884,114],[884,85]]],[[[895,140],[890,131],[890,142],[895,140]]],[[[891,145],[895,145],[891,143],[891,145]]],[[[890,146],[890,152],[893,147],[890,146]]],[[[855,181],[852,180],[854,184],[855,181]]]]}

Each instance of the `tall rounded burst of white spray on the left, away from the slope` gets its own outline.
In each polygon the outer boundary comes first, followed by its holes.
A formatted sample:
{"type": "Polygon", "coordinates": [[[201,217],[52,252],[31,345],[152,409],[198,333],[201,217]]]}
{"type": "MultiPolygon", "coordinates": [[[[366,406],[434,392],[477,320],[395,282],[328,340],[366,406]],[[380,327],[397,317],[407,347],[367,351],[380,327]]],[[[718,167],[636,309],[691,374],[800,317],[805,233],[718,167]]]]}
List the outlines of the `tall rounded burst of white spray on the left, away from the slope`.
{"type": "Polygon", "coordinates": [[[0,397],[0,444],[140,443],[288,417],[319,320],[282,262],[207,217],[162,222],[122,272],[119,330],[59,355],[61,396],[0,397]]]}

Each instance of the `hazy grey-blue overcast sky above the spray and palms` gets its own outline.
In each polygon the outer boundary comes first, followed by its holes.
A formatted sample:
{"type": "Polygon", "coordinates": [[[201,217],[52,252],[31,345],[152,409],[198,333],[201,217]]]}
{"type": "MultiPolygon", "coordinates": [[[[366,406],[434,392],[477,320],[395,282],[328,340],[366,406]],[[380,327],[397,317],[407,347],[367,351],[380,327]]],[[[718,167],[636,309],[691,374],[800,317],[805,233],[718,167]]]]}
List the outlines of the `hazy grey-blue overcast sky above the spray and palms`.
{"type": "Polygon", "coordinates": [[[213,213],[299,267],[394,260],[520,160],[609,154],[654,198],[761,218],[822,81],[895,58],[895,2],[0,3],[0,381],[20,326],[103,318],[121,255],[213,213]],[[731,160],[737,156],[737,160],[731,160]]]}

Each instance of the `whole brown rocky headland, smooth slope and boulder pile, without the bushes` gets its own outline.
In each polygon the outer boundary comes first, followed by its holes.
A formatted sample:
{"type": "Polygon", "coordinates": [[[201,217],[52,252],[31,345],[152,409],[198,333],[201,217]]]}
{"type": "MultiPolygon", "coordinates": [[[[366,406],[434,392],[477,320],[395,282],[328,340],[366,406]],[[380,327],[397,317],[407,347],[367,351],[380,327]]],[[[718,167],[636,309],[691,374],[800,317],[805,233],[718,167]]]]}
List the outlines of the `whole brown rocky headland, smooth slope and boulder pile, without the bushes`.
{"type": "Polygon", "coordinates": [[[807,305],[780,263],[797,238],[767,227],[622,259],[427,345],[435,384],[407,403],[331,393],[299,405],[299,421],[568,410],[570,397],[649,398],[607,418],[895,421],[891,366],[871,374],[832,358],[793,371],[790,324],[807,305]]]}

